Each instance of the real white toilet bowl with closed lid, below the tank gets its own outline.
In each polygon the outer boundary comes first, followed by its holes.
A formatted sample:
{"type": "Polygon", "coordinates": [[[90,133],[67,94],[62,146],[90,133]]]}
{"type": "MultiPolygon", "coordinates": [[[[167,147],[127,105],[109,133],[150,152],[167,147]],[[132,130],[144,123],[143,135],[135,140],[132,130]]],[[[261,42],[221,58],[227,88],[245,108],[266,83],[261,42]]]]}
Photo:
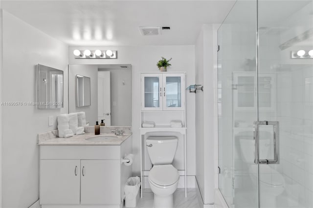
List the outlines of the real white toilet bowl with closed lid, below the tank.
{"type": "Polygon", "coordinates": [[[173,208],[173,193],[179,182],[178,170],[172,165],[153,166],[148,180],[155,194],[154,208],[173,208]]]}

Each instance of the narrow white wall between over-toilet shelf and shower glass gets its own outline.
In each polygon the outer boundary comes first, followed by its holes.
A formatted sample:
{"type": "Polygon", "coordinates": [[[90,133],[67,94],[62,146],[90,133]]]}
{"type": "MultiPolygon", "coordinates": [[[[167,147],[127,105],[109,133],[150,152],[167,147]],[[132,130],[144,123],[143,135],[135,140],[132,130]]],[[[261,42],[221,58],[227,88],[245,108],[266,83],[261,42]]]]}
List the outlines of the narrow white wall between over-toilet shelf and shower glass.
{"type": "Polygon", "coordinates": [[[216,114],[215,97],[217,82],[214,58],[216,58],[216,42],[214,44],[214,25],[203,25],[195,45],[195,77],[196,83],[203,85],[203,92],[196,96],[196,178],[204,204],[214,203],[215,187],[215,141],[216,114]]]}

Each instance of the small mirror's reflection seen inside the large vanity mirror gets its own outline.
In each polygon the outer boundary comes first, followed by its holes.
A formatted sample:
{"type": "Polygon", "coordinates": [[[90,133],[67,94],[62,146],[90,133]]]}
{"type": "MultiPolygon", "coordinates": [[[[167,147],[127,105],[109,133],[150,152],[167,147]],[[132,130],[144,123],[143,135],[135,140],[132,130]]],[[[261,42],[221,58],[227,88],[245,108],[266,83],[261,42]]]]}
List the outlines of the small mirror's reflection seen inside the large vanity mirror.
{"type": "Polygon", "coordinates": [[[76,107],[90,105],[90,78],[76,75],[76,107]]]}

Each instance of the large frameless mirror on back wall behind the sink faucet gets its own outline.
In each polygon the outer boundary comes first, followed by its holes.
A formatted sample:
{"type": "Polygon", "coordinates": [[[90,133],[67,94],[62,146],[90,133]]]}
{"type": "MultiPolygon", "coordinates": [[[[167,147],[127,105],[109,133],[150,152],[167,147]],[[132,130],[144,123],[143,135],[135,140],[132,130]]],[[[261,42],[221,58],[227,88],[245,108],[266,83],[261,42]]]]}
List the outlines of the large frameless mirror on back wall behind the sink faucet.
{"type": "Polygon", "coordinates": [[[90,125],[94,125],[95,121],[101,123],[101,120],[104,120],[106,126],[131,126],[131,68],[131,64],[69,64],[68,112],[85,111],[86,121],[89,121],[90,125]],[[75,75],[91,79],[89,106],[75,106],[76,98],[71,93],[76,87],[75,75]]]}

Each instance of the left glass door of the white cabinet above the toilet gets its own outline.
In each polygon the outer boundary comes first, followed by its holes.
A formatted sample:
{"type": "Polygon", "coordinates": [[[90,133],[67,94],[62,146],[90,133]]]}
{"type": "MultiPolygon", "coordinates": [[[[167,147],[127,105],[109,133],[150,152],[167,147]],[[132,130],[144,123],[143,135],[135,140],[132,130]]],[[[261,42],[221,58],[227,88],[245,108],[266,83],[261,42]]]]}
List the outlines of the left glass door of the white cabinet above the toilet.
{"type": "Polygon", "coordinates": [[[162,110],[162,74],[141,75],[141,110],[162,110]]]}

